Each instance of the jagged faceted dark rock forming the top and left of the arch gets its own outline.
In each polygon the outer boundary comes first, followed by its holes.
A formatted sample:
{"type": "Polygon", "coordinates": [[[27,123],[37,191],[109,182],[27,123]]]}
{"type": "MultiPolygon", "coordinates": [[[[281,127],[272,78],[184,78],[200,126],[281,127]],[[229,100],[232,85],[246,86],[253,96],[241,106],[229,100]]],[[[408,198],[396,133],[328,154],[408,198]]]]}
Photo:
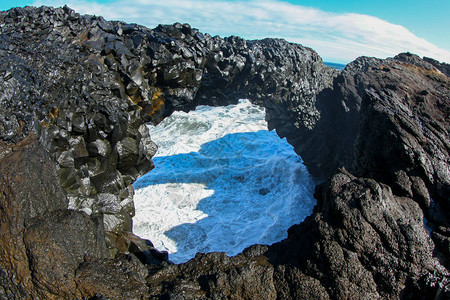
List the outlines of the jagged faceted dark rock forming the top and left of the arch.
{"type": "Polygon", "coordinates": [[[224,40],[180,24],[149,30],[68,8],[2,19],[2,138],[17,141],[37,121],[70,207],[102,213],[110,231],[130,229],[131,183],[152,167],[144,121],[251,97],[268,107],[271,127],[312,128],[315,94],[336,74],[315,52],[281,40],[224,40]]]}

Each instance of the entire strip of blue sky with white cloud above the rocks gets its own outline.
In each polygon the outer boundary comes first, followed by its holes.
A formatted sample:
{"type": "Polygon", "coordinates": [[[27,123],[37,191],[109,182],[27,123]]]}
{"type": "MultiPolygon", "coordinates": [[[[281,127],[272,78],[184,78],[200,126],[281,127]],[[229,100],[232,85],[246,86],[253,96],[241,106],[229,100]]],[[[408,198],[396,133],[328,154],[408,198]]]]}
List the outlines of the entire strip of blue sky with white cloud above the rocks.
{"type": "Polygon", "coordinates": [[[0,9],[64,4],[149,27],[181,22],[212,35],[285,38],[326,61],[410,51],[450,63],[450,0],[0,0],[0,9]]]}

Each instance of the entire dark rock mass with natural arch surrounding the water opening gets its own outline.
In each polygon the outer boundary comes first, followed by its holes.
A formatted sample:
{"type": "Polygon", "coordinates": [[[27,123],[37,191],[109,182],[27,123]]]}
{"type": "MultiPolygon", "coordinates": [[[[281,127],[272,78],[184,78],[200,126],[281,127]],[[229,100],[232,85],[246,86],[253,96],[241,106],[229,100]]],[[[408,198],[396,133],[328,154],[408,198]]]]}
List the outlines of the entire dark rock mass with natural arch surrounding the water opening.
{"type": "Polygon", "coordinates": [[[339,73],[283,40],[67,7],[0,12],[0,32],[1,297],[448,296],[447,64],[362,57],[339,73]],[[326,179],[317,206],[280,243],[172,265],[129,232],[156,151],[144,123],[239,98],[326,179]]]}

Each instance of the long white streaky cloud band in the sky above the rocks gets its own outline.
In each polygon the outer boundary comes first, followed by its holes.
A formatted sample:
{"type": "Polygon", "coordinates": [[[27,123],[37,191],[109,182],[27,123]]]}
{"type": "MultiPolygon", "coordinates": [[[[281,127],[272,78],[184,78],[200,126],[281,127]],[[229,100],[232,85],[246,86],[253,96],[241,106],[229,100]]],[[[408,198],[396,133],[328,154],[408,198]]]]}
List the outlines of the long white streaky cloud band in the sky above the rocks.
{"type": "Polygon", "coordinates": [[[276,0],[38,0],[35,6],[67,4],[79,13],[102,15],[148,27],[189,23],[202,32],[256,39],[280,37],[315,49],[324,60],[349,62],[358,56],[385,58],[413,52],[450,62],[450,51],[400,25],[354,14],[336,14],[276,0]]]}

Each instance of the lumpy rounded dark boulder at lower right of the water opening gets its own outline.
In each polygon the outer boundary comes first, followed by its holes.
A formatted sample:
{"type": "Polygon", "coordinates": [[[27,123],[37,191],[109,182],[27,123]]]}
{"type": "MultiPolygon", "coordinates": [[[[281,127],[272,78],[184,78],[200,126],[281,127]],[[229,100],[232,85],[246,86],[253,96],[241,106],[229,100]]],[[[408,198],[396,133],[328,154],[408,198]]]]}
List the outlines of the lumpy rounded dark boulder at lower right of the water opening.
{"type": "Polygon", "coordinates": [[[420,276],[443,270],[413,200],[345,170],[319,186],[316,197],[315,213],[268,256],[274,252],[274,262],[317,279],[332,298],[398,297],[420,276]]]}

